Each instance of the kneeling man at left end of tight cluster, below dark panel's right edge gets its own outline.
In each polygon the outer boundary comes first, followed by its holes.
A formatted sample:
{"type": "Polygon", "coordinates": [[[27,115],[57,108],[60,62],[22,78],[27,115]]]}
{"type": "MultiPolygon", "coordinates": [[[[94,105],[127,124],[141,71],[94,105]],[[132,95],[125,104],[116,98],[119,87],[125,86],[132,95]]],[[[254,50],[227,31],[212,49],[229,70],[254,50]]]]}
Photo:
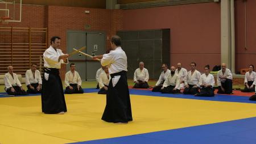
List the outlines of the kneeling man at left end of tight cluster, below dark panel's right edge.
{"type": "Polygon", "coordinates": [[[155,86],[153,87],[153,92],[160,92],[161,88],[163,87],[163,83],[168,77],[168,75],[171,73],[171,70],[168,69],[168,66],[166,63],[162,64],[162,73],[160,74],[160,77],[158,79],[158,82],[156,82],[155,86]]]}

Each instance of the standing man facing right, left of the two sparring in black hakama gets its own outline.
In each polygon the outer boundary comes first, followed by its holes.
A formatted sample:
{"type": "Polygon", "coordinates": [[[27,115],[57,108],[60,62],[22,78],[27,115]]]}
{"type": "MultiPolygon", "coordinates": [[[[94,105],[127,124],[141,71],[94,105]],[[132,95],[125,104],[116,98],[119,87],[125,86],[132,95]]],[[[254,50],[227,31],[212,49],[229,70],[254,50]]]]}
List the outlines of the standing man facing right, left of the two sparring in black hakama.
{"type": "Polygon", "coordinates": [[[47,114],[64,114],[67,107],[59,75],[61,63],[68,63],[68,54],[61,52],[60,37],[51,38],[51,46],[44,52],[44,74],[42,84],[42,111],[47,114]]]}

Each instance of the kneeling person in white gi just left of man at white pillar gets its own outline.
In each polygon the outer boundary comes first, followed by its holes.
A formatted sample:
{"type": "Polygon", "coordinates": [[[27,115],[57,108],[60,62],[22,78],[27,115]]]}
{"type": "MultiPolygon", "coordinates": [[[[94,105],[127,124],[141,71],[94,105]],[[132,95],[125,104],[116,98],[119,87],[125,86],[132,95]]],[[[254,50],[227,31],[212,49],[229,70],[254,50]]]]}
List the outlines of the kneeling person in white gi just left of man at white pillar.
{"type": "Polygon", "coordinates": [[[210,72],[210,66],[206,65],[204,67],[205,73],[200,77],[200,94],[196,94],[195,96],[214,96],[214,77],[210,72]]]}

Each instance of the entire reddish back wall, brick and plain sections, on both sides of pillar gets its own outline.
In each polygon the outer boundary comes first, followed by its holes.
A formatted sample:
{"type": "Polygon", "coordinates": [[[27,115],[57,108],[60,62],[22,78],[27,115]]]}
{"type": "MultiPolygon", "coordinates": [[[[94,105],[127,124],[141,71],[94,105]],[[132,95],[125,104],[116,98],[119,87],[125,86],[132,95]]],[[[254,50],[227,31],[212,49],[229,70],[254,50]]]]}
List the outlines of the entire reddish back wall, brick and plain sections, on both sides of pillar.
{"type": "MultiPolygon", "coordinates": [[[[256,1],[246,1],[246,31],[244,4],[243,0],[235,1],[236,71],[251,63],[256,66],[256,1]]],[[[170,28],[171,65],[181,62],[189,69],[189,63],[195,61],[197,69],[203,72],[204,65],[209,64],[212,68],[221,63],[220,24],[220,3],[211,2],[135,10],[23,5],[21,23],[0,24],[0,27],[48,27],[48,37],[61,37],[64,52],[68,29],[105,31],[106,36],[111,37],[119,30],[170,28]],[[85,10],[90,14],[85,14],[85,10]],[[85,24],[90,24],[91,28],[85,29],[85,24]]],[[[107,49],[109,43],[107,39],[107,49]]],[[[62,78],[64,73],[63,65],[62,78]]]]}

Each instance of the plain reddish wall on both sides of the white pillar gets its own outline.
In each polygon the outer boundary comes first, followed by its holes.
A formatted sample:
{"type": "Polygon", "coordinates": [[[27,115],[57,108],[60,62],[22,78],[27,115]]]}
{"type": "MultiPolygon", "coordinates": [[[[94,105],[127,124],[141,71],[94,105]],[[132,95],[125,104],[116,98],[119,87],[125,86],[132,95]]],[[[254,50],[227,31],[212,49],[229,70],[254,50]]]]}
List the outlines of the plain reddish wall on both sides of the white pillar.
{"type": "MultiPolygon", "coordinates": [[[[235,1],[236,71],[256,66],[256,1],[246,1],[246,49],[244,2],[235,1]]],[[[221,63],[220,16],[219,2],[124,10],[123,30],[170,28],[171,65],[181,62],[189,69],[195,61],[203,72],[204,65],[221,63]]]]}

